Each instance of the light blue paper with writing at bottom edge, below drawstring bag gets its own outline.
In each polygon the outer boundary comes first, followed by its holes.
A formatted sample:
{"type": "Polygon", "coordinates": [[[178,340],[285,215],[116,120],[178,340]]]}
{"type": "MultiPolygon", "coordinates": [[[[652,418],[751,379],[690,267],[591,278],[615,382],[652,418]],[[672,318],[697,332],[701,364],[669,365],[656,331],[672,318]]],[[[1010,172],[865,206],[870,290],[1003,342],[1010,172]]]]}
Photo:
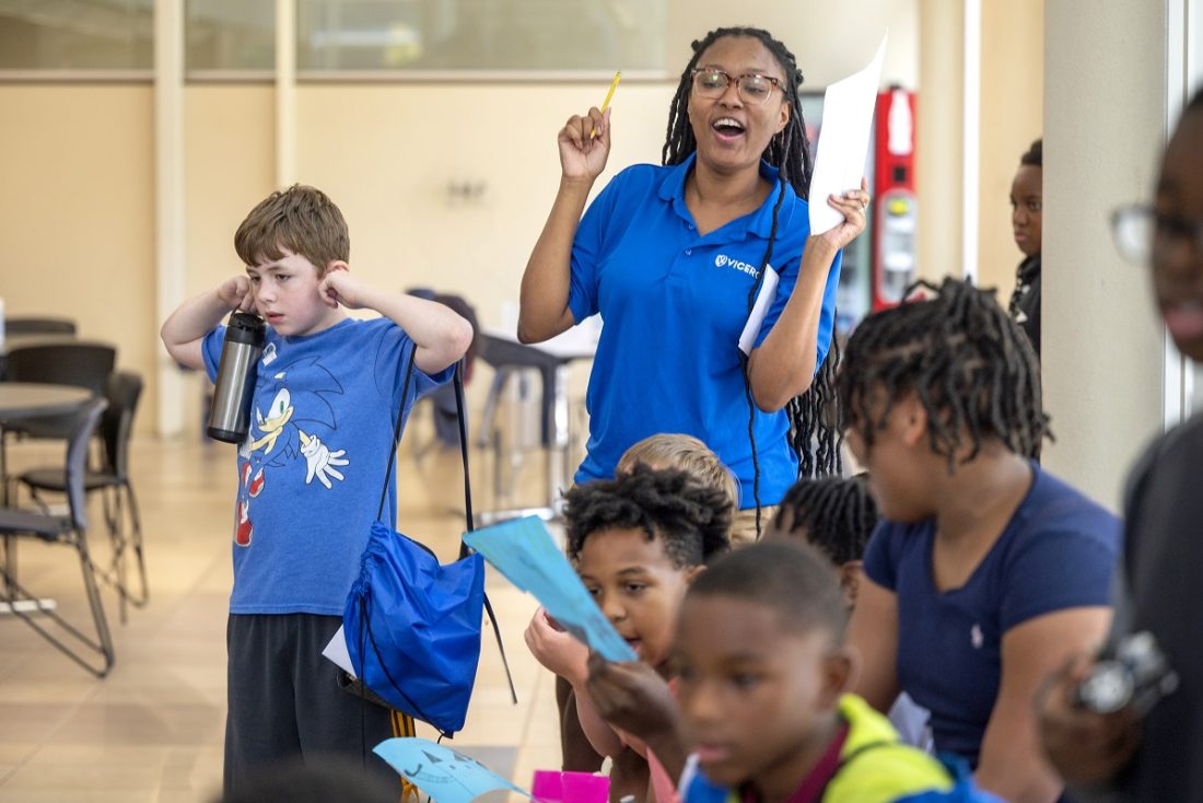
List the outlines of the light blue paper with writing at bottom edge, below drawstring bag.
{"type": "Polygon", "coordinates": [[[386,739],[372,751],[435,803],[469,803],[499,789],[531,797],[472,756],[428,739],[386,739]]]}

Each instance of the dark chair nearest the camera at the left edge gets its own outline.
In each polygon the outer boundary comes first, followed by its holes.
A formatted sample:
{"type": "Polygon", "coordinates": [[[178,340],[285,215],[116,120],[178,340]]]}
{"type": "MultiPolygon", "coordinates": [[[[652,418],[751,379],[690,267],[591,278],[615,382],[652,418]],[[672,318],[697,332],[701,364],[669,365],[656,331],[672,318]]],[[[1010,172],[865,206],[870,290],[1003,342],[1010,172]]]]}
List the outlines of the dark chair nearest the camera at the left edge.
{"type": "Polygon", "coordinates": [[[67,441],[65,464],[69,508],[66,516],[30,513],[7,507],[0,509],[0,536],[4,536],[5,547],[4,562],[0,563],[0,580],[2,580],[0,594],[8,603],[8,609],[67,657],[97,678],[108,674],[113,666],[113,638],[108,631],[108,621],[105,619],[105,607],[100,598],[95,566],[88,551],[84,477],[88,470],[88,444],[106,407],[108,407],[108,402],[103,398],[94,398],[71,417],[73,427],[67,441]],[[54,608],[42,606],[37,596],[17,581],[14,549],[16,539],[22,537],[65,544],[78,553],[95,637],[77,628],[54,608]],[[49,622],[58,626],[59,631],[52,632],[49,627],[43,626],[40,618],[31,616],[29,610],[38,612],[46,616],[49,622]]]}

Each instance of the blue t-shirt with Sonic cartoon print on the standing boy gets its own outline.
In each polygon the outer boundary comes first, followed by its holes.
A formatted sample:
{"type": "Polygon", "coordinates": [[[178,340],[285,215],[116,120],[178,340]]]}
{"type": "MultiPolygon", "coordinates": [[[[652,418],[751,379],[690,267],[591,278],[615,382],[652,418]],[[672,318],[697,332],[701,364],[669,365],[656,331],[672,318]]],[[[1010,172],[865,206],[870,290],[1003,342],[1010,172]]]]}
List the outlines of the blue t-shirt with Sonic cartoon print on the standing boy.
{"type": "MultiPolygon", "coordinates": [[[[211,379],[224,337],[219,326],[203,341],[211,379]]],[[[238,447],[230,613],[343,615],[377,519],[413,348],[386,318],[303,337],[268,327],[250,433],[238,447]]],[[[431,377],[415,367],[407,407],[452,370],[431,377]]],[[[391,525],[395,477],[387,489],[391,525]]]]}

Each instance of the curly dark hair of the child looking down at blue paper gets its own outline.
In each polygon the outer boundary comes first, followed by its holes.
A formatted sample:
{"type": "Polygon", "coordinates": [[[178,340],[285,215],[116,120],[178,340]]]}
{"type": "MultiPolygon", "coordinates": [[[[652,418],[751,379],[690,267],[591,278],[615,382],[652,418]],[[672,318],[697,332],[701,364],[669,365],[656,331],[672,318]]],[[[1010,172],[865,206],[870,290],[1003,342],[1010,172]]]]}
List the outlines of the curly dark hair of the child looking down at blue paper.
{"type": "Polygon", "coordinates": [[[677,568],[700,566],[730,548],[730,497],[675,468],[639,464],[616,479],[573,488],[564,502],[568,556],[574,561],[589,536],[615,527],[659,538],[677,568]]]}

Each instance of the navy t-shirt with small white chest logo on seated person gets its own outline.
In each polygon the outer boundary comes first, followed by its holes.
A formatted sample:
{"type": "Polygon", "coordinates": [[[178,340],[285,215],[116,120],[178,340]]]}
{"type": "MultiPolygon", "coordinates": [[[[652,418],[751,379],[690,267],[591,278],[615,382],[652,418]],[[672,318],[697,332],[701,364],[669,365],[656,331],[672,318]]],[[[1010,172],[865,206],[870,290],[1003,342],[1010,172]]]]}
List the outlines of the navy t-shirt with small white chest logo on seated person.
{"type": "Polygon", "coordinates": [[[865,573],[897,595],[897,678],[931,712],[938,752],[977,767],[1002,674],[1003,634],[1042,614],[1110,602],[1120,522],[1032,464],[1035,480],[964,586],[936,590],[935,521],[882,521],[865,573]]]}

